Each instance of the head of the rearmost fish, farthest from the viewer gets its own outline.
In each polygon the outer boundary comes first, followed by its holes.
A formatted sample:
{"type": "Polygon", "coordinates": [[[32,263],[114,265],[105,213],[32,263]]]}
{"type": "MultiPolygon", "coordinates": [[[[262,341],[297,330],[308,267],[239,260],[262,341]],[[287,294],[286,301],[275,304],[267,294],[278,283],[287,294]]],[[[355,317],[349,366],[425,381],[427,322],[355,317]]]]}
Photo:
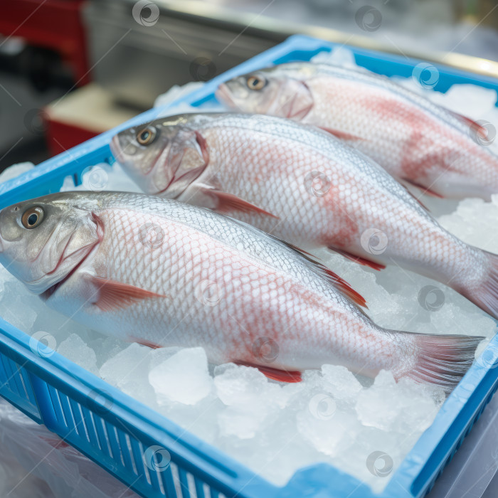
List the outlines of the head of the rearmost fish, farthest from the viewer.
{"type": "Polygon", "coordinates": [[[221,83],[216,97],[233,109],[301,120],[313,107],[313,96],[296,70],[279,66],[221,83]]]}

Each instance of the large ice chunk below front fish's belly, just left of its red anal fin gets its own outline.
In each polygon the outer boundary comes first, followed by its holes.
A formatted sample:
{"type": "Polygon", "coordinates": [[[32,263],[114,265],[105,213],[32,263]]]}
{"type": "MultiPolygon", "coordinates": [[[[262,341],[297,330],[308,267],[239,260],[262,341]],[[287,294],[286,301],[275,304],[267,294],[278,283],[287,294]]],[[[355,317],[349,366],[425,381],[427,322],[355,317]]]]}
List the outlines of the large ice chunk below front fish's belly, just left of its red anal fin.
{"type": "Polygon", "coordinates": [[[203,348],[182,349],[149,372],[159,404],[195,405],[211,392],[213,380],[203,348]],[[166,399],[164,399],[166,398],[166,399]]]}

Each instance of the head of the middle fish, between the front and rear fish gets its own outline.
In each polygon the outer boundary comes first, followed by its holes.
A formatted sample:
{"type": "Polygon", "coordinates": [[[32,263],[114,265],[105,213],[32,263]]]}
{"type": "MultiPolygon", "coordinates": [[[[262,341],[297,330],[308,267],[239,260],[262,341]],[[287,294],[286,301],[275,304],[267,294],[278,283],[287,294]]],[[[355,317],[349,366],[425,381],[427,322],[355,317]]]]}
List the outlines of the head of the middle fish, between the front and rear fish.
{"type": "Polygon", "coordinates": [[[177,198],[206,168],[208,151],[196,116],[164,117],[112,138],[112,154],[145,193],[177,198]]]}

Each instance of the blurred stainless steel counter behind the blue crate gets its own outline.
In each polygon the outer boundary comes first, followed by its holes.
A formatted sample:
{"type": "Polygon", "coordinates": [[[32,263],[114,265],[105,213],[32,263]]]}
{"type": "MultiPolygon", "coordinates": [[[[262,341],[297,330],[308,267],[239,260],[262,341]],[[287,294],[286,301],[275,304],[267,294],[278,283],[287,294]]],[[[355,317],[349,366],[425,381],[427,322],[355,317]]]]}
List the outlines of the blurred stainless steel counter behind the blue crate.
{"type": "MultiPolygon", "coordinates": [[[[444,38],[443,28],[437,27],[443,26],[438,24],[441,19],[420,25],[416,41],[416,36],[410,38],[408,33],[418,25],[407,18],[406,1],[390,2],[390,7],[385,1],[377,3],[378,8],[343,1],[337,9],[337,2],[319,0],[229,4],[214,0],[92,0],[85,9],[85,20],[93,78],[117,100],[144,109],[172,85],[208,80],[295,33],[498,77],[497,62],[457,53],[462,43],[455,51],[446,52],[436,48],[452,48],[452,41],[428,43],[428,33],[444,38]],[[399,33],[405,25],[406,40],[402,42],[399,33]]],[[[472,26],[467,31],[475,33],[472,26]]],[[[461,38],[469,36],[462,33],[461,38]]]]}

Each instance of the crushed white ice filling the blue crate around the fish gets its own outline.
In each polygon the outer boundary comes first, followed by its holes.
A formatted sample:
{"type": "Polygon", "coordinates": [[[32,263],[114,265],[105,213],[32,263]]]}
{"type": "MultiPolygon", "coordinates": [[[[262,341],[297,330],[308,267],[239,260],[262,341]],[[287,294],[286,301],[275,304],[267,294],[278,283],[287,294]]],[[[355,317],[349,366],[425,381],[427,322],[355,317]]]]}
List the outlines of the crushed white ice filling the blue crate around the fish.
{"type": "MultiPolygon", "coordinates": [[[[354,63],[344,48],[319,58],[354,63]]],[[[401,83],[475,120],[498,123],[493,90],[455,85],[442,94],[413,78],[401,83]]],[[[26,169],[18,166],[15,173],[26,169]]],[[[11,176],[7,171],[0,181],[11,176]]],[[[78,187],[68,176],[61,190],[89,189],[138,191],[117,164],[94,166],[78,187]]],[[[448,231],[498,253],[498,196],[491,203],[424,202],[448,231]]],[[[324,250],[317,255],[364,295],[369,315],[383,327],[488,340],[495,332],[494,319],[438,282],[396,266],[373,272],[324,250]]],[[[0,290],[1,317],[275,484],[285,484],[300,467],[329,462],[380,490],[444,401],[428,386],[406,378],[396,383],[390,372],[381,371],[372,383],[342,366],[306,371],[302,383],[276,383],[249,367],[209,366],[201,348],[153,350],[103,337],[44,307],[3,267],[0,290]],[[383,455],[382,472],[372,462],[375,455],[383,455]]],[[[484,344],[477,354],[482,349],[484,344]]]]}

